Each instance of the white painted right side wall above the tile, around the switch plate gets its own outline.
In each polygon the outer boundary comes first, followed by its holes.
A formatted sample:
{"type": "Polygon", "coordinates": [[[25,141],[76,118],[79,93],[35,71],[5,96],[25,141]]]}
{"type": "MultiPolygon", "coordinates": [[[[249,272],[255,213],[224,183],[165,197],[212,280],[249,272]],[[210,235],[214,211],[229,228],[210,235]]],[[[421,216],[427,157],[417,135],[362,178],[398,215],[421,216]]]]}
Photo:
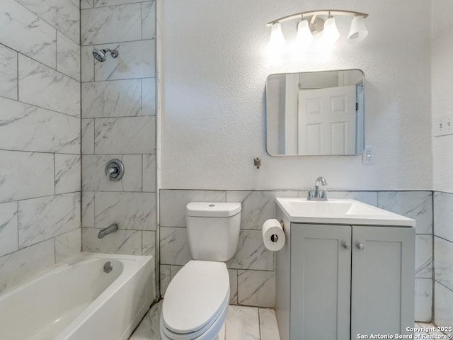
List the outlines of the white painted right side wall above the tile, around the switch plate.
{"type": "MultiPolygon", "coordinates": [[[[453,2],[432,1],[432,117],[453,113],[453,2]]],[[[453,135],[433,137],[434,189],[453,193],[453,135]]]]}

